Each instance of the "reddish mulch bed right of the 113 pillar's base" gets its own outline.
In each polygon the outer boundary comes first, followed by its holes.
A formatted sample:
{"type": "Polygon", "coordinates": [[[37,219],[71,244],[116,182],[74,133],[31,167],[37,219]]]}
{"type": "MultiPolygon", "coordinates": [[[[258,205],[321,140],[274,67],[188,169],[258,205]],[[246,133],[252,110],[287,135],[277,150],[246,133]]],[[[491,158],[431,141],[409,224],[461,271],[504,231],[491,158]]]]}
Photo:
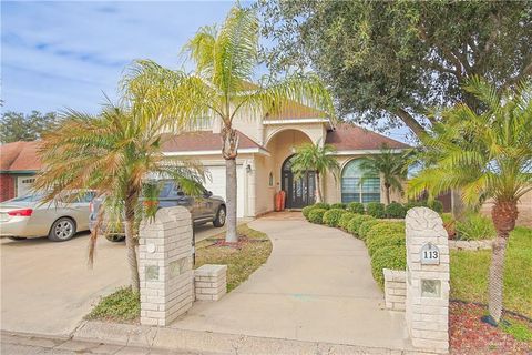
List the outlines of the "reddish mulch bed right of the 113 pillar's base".
{"type": "MultiPolygon", "coordinates": [[[[482,305],[451,302],[449,308],[451,354],[532,354],[532,344],[519,342],[501,328],[480,321],[487,313],[482,305]]],[[[504,317],[512,321],[512,315],[504,317]]]]}

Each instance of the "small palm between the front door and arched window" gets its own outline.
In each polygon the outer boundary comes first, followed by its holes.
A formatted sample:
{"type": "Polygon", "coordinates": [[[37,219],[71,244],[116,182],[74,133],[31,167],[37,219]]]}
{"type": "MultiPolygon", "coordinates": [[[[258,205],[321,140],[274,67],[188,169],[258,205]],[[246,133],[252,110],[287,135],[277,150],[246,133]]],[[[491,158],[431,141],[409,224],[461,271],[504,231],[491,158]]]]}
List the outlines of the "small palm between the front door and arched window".
{"type": "Polygon", "coordinates": [[[316,174],[316,202],[323,202],[320,175],[329,171],[336,180],[337,172],[340,170],[338,161],[332,155],[336,149],[330,144],[321,146],[320,142],[304,143],[296,148],[296,153],[291,158],[291,171],[296,178],[301,176],[307,171],[314,171],[316,174]]]}

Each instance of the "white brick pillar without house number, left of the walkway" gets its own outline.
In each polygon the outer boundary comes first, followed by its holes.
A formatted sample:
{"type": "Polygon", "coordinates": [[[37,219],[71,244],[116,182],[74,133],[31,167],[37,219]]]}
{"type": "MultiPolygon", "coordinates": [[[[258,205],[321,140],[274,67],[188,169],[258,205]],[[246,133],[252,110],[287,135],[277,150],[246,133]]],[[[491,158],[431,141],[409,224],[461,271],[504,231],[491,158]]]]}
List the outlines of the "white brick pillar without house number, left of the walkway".
{"type": "Polygon", "coordinates": [[[166,326],[192,306],[192,219],[185,207],[157,211],[139,230],[141,324],[166,326]]]}

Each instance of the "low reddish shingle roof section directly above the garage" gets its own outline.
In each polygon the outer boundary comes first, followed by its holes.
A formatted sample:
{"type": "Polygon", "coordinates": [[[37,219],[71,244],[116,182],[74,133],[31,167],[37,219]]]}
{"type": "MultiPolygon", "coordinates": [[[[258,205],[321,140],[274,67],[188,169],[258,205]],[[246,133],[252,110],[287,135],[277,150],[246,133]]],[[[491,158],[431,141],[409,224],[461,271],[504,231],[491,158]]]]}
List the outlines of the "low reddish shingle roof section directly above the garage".
{"type": "MultiPolygon", "coordinates": [[[[238,148],[263,148],[249,136],[238,132],[238,148]]],[[[211,131],[187,132],[178,135],[163,134],[164,152],[216,151],[222,150],[221,133],[211,131]]]]}

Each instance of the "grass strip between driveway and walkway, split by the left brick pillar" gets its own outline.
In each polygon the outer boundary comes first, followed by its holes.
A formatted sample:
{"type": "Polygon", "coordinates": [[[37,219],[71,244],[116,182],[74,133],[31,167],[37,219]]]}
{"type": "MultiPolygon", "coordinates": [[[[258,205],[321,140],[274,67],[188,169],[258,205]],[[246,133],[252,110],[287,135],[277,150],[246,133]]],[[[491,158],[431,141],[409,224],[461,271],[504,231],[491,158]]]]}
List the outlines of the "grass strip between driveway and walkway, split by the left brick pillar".
{"type": "MultiPolygon", "coordinates": [[[[227,265],[227,292],[246,281],[254,271],[266,262],[272,253],[272,242],[266,234],[252,230],[246,224],[239,225],[237,231],[239,236],[248,239],[248,242],[242,243],[241,248],[216,245],[217,241],[224,239],[225,233],[219,233],[196,244],[194,268],[204,264],[227,265]]],[[[141,301],[139,293],[133,293],[130,287],[123,287],[109,296],[102,297],[85,318],[139,323],[140,315],[141,301]]]]}

